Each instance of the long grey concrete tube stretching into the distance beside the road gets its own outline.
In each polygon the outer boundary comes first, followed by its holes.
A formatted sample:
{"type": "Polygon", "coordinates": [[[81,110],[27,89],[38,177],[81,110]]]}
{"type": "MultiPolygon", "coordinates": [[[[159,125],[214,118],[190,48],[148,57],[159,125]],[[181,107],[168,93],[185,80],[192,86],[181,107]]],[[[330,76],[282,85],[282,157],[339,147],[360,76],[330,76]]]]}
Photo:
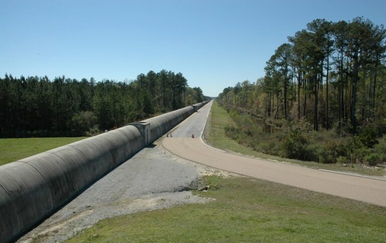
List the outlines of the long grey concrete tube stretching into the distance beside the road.
{"type": "MultiPolygon", "coordinates": [[[[143,121],[150,142],[208,102],[143,121]]],[[[146,145],[141,130],[127,125],[0,166],[0,242],[21,235],[146,145]]]]}

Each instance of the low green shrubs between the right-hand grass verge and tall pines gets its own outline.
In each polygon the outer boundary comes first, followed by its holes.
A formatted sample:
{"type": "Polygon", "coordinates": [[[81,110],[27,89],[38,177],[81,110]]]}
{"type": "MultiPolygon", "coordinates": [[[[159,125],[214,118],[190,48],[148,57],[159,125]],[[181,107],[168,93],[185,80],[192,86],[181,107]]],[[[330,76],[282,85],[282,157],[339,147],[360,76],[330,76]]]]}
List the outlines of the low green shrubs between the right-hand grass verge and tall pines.
{"type": "Polygon", "coordinates": [[[349,161],[352,164],[373,165],[371,158],[374,155],[366,157],[370,153],[377,154],[378,163],[386,160],[386,135],[379,141],[376,137],[368,139],[367,134],[373,134],[370,129],[361,133],[366,136],[342,136],[335,130],[310,130],[307,122],[282,122],[280,129],[264,133],[262,127],[265,123],[253,119],[252,115],[245,112],[240,114],[232,107],[228,107],[228,114],[237,126],[225,126],[226,136],[258,152],[322,164],[343,164],[349,161]],[[372,141],[374,148],[369,148],[362,141],[367,144],[372,141]]]}

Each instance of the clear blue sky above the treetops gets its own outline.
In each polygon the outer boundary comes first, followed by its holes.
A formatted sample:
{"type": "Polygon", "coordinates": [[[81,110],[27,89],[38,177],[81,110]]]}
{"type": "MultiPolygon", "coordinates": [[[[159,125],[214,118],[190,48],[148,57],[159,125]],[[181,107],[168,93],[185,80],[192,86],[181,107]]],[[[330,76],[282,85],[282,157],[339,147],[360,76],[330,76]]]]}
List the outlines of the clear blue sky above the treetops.
{"type": "Polygon", "coordinates": [[[166,69],[217,96],[263,76],[312,20],[357,16],[386,24],[386,0],[0,0],[0,75],[123,81],[166,69]]]}

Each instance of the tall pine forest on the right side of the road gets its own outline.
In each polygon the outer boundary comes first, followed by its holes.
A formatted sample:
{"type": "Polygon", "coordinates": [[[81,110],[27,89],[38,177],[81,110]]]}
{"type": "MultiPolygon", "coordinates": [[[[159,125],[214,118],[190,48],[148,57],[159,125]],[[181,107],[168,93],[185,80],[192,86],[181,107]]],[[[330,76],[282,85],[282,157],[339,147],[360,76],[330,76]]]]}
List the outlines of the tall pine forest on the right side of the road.
{"type": "Polygon", "coordinates": [[[264,77],[225,88],[218,100],[267,124],[292,130],[277,138],[280,148],[253,145],[257,150],[328,163],[339,156],[363,162],[375,152],[376,138],[386,133],[385,58],[383,25],[360,17],[348,22],[317,19],[274,51],[264,77]],[[321,137],[327,132],[325,139],[321,137]],[[290,140],[300,147],[284,144],[290,140]],[[312,144],[321,147],[311,148],[312,144]],[[317,152],[338,145],[344,151],[331,156],[317,152]],[[358,149],[362,151],[353,158],[358,149]]]}

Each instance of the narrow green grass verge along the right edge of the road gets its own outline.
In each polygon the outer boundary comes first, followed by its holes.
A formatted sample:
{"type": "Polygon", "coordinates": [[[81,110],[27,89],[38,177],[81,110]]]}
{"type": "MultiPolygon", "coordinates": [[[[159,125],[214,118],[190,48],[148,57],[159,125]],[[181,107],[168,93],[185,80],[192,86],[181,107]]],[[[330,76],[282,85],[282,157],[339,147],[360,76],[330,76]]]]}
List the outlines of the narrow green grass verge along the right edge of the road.
{"type": "Polygon", "coordinates": [[[233,125],[233,126],[237,126],[237,125],[229,116],[227,111],[224,108],[222,108],[216,101],[213,103],[212,110],[210,113],[209,124],[207,125],[209,127],[208,127],[208,131],[206,132],[206,140],[212,146],[223,150],[234,151],[237,153],[260,157],[260,158],[284,161],[284,162],[293,163],[293,164],[314,168],[314,169],[351,172],[351,173],[357,173],[357,174],[363,174],[363,175],[369,175],[369,176],[383,176],[385,172],[384,169],[373,170],[373,169],[363,168],[360,165],[353,165],[353,166],[348,165],[347,167],[343,167],[340,164],[321,164],[321,163],[316,163],[312,161],[288,159],[288,158],[282,158],[274,155],[257,152],[252,148],[239,144],[237,141],[225,135],[224,127],[226,125],[233,125]]]}

